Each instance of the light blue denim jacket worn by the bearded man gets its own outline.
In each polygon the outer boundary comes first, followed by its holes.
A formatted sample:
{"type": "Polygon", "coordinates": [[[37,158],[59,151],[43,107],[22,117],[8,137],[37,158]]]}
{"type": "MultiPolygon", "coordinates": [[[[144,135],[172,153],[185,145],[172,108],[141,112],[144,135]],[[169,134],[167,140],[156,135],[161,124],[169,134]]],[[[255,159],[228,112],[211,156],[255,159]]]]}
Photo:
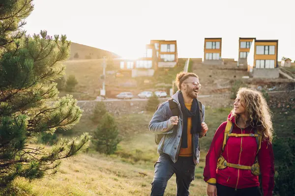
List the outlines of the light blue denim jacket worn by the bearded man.
{"type": "MultiPolygon", "coordinates": [[[[158,145],[158,153],[165,153],[170,156],[171,160],[176,163],[178,159],[178,154],[181,146],[181,135],[183,127],[183,115],[180,109],[180,104],[178,101],[179,90],[172,96],[173,101],[177,103],[179,108],[179,120],[178,125],[174,126],[171,130],[162,132],[167,128],[168,120],[172,115],[172,112],[169,108],[169,102],[166,101],[152,116],[151,121],[149,122],[148,129],[154,134],[164,134],[164,137],[158,145]]],[[[205,106],[202,104],[202,116],[201,121],[205,121],[205,106]]],[[[193,157],[194,163],[199,164],[200,159],[200,147],[199,147],[199,134],[193,134],[192,140],[193,146],[193,157]]]]}

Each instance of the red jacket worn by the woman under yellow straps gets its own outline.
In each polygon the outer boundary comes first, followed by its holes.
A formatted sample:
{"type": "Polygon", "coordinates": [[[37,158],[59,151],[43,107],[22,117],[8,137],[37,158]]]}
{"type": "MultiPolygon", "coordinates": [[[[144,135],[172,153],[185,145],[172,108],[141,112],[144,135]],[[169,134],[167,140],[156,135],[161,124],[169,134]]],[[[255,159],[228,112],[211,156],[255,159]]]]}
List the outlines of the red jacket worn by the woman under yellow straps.
{"type": "MultiPolygon", "coordinates": [[[[239,128],[236,125],[236,119],[233,114],[229,114],[228,119],[234,124],[232,133],[254,134],[254,128],[251,126],[245,129],[239,128]]],[[[206,182],[217,182],[218,184],[236,189],[260,186],[258,176],[253,175],[251,170],[231,167],[224,169],[217,168],[217,161],[220,154],[228,163],[243,166],[252,166],[257,155],[258,146],[255,137],[229,137],[222,152],[226,124],[227,122],[223,122],[218,127],[212,140],[206,156],[204,180],[206,182]]],[[[258,162],[262,173],[264,196],[271,196],[274,187],[274,156],[271,143],[262,140],[261,148],[258,152],[258,162]]]]}

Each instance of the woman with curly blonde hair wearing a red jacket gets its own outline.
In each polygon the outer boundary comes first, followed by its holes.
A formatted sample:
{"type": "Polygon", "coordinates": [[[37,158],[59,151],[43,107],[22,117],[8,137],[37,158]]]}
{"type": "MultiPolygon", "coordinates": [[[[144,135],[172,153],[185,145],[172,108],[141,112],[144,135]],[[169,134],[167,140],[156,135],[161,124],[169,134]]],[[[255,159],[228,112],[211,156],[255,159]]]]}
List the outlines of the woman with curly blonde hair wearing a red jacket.
{"type": "Polygon", "coordinates": [[[272,133],[270,110],[262,93],[240,88],[234,109],[217,129],[206,156],[207,195],[271,196],[272,133]]]}

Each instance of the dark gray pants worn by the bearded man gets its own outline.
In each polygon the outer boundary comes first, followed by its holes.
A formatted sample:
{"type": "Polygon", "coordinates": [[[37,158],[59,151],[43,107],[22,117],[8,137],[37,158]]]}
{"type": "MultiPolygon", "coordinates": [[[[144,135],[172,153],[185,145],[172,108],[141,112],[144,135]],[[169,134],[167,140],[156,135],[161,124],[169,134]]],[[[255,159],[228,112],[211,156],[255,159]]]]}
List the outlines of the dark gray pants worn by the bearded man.
{"type": "Polygon", "coordinates": [[[167,182],[176,174],[177,196],[188,196],[189,185],[195,179],[195,164],[193,157],[178,157],[173,163],[170,156],[160,154],[155,163],[154,178],[151,183],[151,196],[163,196],[167,182]]]}

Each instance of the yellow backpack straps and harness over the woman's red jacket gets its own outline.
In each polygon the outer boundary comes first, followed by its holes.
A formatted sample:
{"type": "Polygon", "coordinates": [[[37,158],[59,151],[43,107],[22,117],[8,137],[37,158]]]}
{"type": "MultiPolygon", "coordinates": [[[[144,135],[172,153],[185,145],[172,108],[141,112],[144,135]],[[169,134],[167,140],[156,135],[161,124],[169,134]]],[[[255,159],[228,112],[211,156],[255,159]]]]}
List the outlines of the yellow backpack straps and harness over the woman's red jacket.
{"type": "Polygon", "coordinates": [[[260,175],[260,167],[259,167],[259,163],[258,163],[258,152],[261,148],[261,140],[262,140],[262,131],[259,131],[257,129],[255,129],[255,133],[254,134],[233,134],[233,128],[234,128],[234,124],[228,120],[226,127],[225,127],[225,132],[224,132],[224,139],[223,139],[223,144],[222,144],[222,152],[224,150],[224,146],[226,145],[227,140],[229,139],[229,137],[255,137],[256,138],[256,142],[257,142],[257,155],[256,155],[256,161],[254,162],[254,164],[252,166],[241,166],[238,164],[232,164],[232,163],[228,163],[225,158],[220,155],[218,162],[217,162],[217,168],[218,169],[224,169],[226,167],[231,167],[231,168],[237,168],[237,169],[249,169],[251,170],[251,172],[254,175],[260,175]]]}

